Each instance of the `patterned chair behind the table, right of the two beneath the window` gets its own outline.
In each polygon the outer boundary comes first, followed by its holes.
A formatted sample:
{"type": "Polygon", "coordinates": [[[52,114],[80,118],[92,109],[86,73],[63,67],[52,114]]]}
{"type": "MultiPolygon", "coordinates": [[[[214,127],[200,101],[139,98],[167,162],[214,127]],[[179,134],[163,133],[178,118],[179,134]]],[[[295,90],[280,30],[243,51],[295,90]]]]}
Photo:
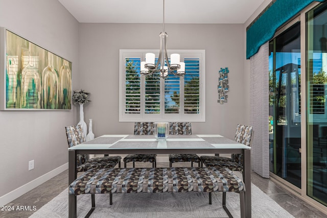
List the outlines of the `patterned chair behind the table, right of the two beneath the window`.
{"type": "MultiPolygon", "coordinates": [[[[169,124],[170,135],[192,135],[191,123],[170,123],[169,124]]],[[[172,163],[175,162],[197,162],[200,166],[201,159],[197,154],[170,154],[169,155],[169,166],[172,167],[172,163]]]]}

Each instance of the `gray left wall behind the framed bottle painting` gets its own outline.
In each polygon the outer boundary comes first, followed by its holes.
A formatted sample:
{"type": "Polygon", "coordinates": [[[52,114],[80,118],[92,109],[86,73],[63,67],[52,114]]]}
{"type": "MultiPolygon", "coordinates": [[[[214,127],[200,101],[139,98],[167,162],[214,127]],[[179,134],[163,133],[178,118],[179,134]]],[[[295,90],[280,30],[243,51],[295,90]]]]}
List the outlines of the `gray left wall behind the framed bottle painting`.
{"type": "MultiPolygon", "coordinates": [[[[72,61],[73,87],[77,87],[78,22],[57,0],[0,0],[0,26],[72,61]]],[[[76,107],[73,111],[0,111],[0,197],[67,163],[64,127],[76,123],[77,114],[76,107]],[[35,168],[28,171],[32,159],[35,168]]]]}

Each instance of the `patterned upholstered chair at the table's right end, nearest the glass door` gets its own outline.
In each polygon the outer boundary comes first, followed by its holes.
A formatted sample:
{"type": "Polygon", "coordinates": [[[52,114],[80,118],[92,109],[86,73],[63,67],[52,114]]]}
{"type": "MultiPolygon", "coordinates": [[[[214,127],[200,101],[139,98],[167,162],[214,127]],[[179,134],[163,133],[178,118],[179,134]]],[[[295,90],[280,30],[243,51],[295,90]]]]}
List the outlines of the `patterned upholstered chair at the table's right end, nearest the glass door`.
{"type": "MultiPolygon", "coordinates": [[[[250,146],[253,127],[238,124],[236,128],[234,140],[250,146]]],[[[243,172],[243,155],[231,154],[231,158],[228,157],[216,157],[216,156],[201,156],[200,157],[205,166],[217,166],[227,167],[231,171],[243,172]]]]}

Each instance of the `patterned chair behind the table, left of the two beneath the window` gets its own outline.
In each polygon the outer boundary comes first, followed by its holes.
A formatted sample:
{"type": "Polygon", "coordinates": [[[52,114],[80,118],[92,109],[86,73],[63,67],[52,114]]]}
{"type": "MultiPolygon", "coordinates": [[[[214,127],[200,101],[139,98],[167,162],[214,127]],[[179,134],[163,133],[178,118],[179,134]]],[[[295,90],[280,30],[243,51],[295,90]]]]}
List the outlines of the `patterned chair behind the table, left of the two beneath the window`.
{"type": "MultiPolygon", "coordinates": [[[[153,122],[135,122],[134,135],[153,135],[154,134],[154,123],[153,122]]],[[[129,154],[123,159],[124,167],[128,162],[150,162],[152,167],[156,167],[156,154],[129,154]]]]}

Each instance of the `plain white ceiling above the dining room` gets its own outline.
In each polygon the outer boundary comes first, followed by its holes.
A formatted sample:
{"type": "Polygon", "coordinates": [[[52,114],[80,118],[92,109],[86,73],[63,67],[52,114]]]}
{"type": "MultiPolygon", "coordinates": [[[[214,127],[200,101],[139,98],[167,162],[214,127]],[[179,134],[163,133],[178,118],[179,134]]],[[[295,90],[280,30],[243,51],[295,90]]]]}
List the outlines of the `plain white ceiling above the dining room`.
{"type": "MultiPolygon", "coordinates": [[[[162,23],[162,0],[58,0],[79,22],[162,23]]],[[[265,0],[166,0],[165,23],[244,23],[265,0]]]]}

